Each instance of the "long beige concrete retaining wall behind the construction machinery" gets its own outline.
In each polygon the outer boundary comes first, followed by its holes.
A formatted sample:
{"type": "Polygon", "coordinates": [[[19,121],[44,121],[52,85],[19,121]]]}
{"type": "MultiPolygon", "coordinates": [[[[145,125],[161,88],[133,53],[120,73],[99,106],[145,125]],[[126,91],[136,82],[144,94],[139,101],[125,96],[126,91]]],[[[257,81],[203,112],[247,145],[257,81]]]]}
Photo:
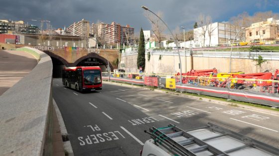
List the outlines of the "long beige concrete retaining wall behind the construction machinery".
{"type": "MultiPolygon", "coordinates": [[[[182,73],[185,73],[191,69],[191,62],[193,62],[193,69],[212,69],[215,67],[218,72],[229,72],[230,70],[230,52],[193,52],[192,58],[189,52],[186,56],[185,53],[181,52],[180,57],[182,65],[179,64],[177,52],[145,51],[145,72],[177,73],[180,72],[179,66],[181,66],[182,73]],[[147,52],[150,52],[149,61],[147,60],[147,52]]],[[[123,53],[120,62],[121,68],[125,69],[126,72],[139,72],[137,58],[137,52],[123,53]]],[[[232,72],[256,73],[265,70],[274,72],[279,67],[279,52],[234,52],[231,63],[232,72]],[[268,60],[262,64],[261,68],[256,66],[256,62],[253,61],[253,58],[259,54],[268,60]]]]}

